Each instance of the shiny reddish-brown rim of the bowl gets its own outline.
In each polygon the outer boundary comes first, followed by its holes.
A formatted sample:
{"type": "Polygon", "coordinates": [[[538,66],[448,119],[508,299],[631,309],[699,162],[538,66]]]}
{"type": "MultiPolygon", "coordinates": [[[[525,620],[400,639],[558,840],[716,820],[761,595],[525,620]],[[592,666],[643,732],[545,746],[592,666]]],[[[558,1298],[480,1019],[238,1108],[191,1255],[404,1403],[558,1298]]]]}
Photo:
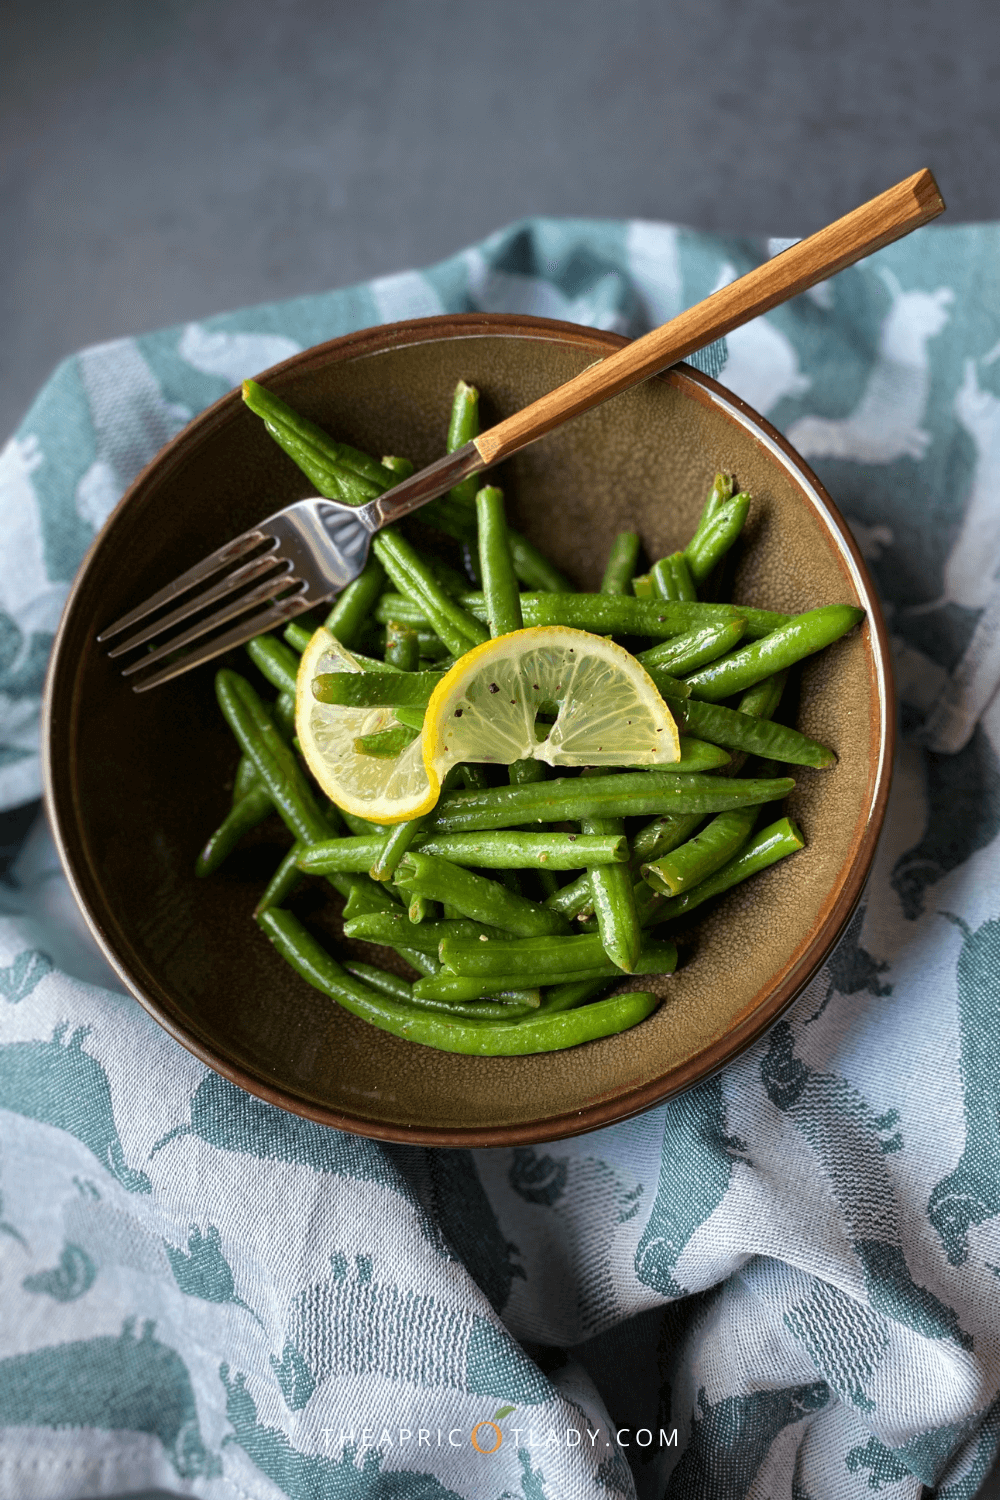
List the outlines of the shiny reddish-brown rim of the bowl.
{"type": "MultiPolygon", "coordinates": [[[[328,363],[331,357],[336,360],[355,358],[358,356],[382,352],[387,348],[402,345],[430,344],[438,342],[442,338],[481,338],[483,334],[522,339],[550,339],[556,334],[571,344],[576,344],[579,348],[591,348],[598,356],[610,350],[619,350],[630,342],[616,333],[607,333],[600,328],[588,328],[574,322],[561,322],[552,318],[520,316],[517,314],[451,314],[435,318],[411,318],[405,322],[379,324],[373,328],[361,328],[357,333],[346,333],[339,339],[330,339],[327,344],[318,344],[309,350],[303,350],[301,354],[295,354],[292,358],[283,360],[280,364],[274,364],[268,370],[262,370],[259,378],[264,380],[267,376],[273,376],[279,372],[288,370],[289,368],[300,372],[307,370],[312,364],[328,363]],[[459,332],[456,332],[456,328],[459,332]]],[[[582,1110],[546,1116],[538,1122],[526,1125],[505,1125],[495,1128],[483,1126],[474,1130],[418,1130],[399,1125],[384,1126],[366,1119],[355,1119],[351,1114],[343,1114],[331,1108],[318,1108],[315,1104],[295,1098],[283,1089],[276,1089],[265,1078],[247,1071],[246,1068],[234,1066],[226,1059],[219,1058],[211,1047],[204,1046],[196,1038],[187,1035],[183,1028],[177,1026],[177,1023],[160,1010],[156,1000],[139,988],[132,975],[126,970],[124,964],[118,960],[106,934],[103,933],[100,922],[87,904],[76,876],[76,862],[73,858],[78,842],[76,831],[72,826],[66,828],[63,825],[54,784],[55,772],[52,766],[51,744],[54,681],[66,634],[66,621],[72,612],[81,586],[81,579],[99,546],[103,528],[102,532],[99,532],[99,536],[91,542],[87,555],[76,572],[63,608],[63,615],[52,644],[52,654],[49,657],[42,699],[43,798],[55,848],[58,849],[63,870],[73,897],[87,920],[87,926],[90,927],[90,932],[93,933],[102,952],[108,958],[108,963],[121,978],[126,990],[129,990],[144,1010],[147,1010],[154,1020],[159,1022],[163,1030],[186,1047],[187,1052],[193,1053],[193,1056],[196,1056],[201,1062],[213,1068],[213,1071],[219,1072],[231,1083],[244,1089],[247,1094],[265,1100],[268,1104],[276,1104],[279,1108],[288,1110],[292,1114],[303,1116],[304,1119],[315,1120],[321,1125],[333,1125],[337,1130],[346,1130],[355,1136],[366,1136],[372,1140],[412,1142],[424,1146],[472,1148],[526,1146],[550,1140],[564,1140],[571,1136],[582,1136],[588,1131],[600,1130],[604,1125],[613,1125],[618,1120],[642,1114],[655,1104],[663,1104],[666,1100],[673,1098],[684,1089],[700,1083],[703,1078],[723,1068],[727,1062],[738,1058],[742,1052],[753,1046],[753,1042],[756,1042],[798,999],[802,990],[822,968],[828,954],[847,927],[847,922],[861,900],[871,868],[871,861],[874,858],[879,834],[882,832],[882,825],[885,822],[895,754],[895,694],[892,681],[892,657],[889,652],[889,638],[879,596],[858,543],[850,534],[844,518],[826,494],[825,488],[820,484],[813,470],[795,452],[792,444],[765,417],[759,416],[753,406],[750,406],[745,400],[741,400],[739,396],[735,396],[724,386],[720,386],[718,381],[712,380],[709,375],[703,375],[690,364],[684,364],[682,370],[685,384],[688,386],[688,393],[696,399],[703,400],[706,405],[721,406],[721,410],[729,412],[735,422],[751,430],[754,436],[771,452],[777,462],[793,476],[802,489],[808,492],[810,500],[817,510],[829,518],[831,536],[840,548],[843,561],[852,574],[858,594],[861,596],[868,614],[867,627],[871,645],[871,672],[880,708],[880,724],[877,726],[877,770],[874,776],[868,820],[858,842],[847,879],[841,885],[837,897],[829,903],[822,921],[817,927],[814,927],[810,939],[802,944],[795,964],[786,974],[784,981],[777,986],[768,999],[750,1016],[738,1022],[724,1038],[720,1038],[717,1042],[705,1047],[682,1066],[675,1068],[669,1074],[658,1078],[652,1078],[649,1083],[636,1089],[630,1089],[628,1092],[597,1100],[582,1110]],[[694,387],[694,390],[691,390],[691,387],[694,387]]],[[[664,370],[652,378],[670,380],[672,372],[664,370]]],[[[205,411],[199,412],[193,422],[198,423],[202,430],[211,429],[226,418],[229,408],[238,405],[240,399],[240,387],[237,386],[211,406],[207,406],[205,411]]],[[[118,506],[111,513],[112,516],[117,514],[118,508],[130,500],[132,492],[144,483],[145,476],[154,465],[157,468],[162,465],[169,466],[177,460],[181,446],[189,440],[189,434],[190,424],[172,438],[171,442],[160,448],[156,458],[147,464],[147,466],[135,477],[132,484],[129,484],[127,490],[118,501],[118,506]]],[[[111,518],[108,518],[108,520],[111,520],[111,518]]]]}

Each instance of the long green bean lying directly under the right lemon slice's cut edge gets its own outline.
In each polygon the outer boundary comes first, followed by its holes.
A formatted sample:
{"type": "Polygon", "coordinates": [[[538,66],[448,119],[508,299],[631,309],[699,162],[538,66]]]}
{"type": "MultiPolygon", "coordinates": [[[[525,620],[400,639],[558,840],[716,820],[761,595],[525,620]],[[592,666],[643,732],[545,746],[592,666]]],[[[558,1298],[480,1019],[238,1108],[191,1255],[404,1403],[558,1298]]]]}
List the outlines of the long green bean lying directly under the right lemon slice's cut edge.
{"type": "Polygon", "coordinates": [[[531,822],[579,822],[580,818],[723,813],[730,807],[771,802],[786,796],[795,782],[723,780],[715,776],[676,776],[663,768],[627,771],[600,780],[555,777],[537,786],[492,786],[483,792],[448,792],[432,814],[435,834],[519,828],[531,822]]]}

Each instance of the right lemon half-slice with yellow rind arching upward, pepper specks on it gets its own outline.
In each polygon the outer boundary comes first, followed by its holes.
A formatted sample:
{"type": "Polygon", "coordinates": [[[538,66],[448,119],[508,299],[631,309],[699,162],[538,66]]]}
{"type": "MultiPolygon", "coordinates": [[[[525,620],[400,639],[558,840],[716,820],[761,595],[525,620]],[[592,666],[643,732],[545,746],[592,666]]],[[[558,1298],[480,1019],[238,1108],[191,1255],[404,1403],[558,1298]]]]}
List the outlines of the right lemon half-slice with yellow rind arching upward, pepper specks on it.
{"type": "Polygon", "coordinates": [[[423,758],[441,783],[462,760],[510,765],[669,765],[678,726],[646,669],[604,636],[565,626],[514,630],[468,651],[427,704],[423,758]],[[535,732],[540,708],[555,723],[535,732]]]}

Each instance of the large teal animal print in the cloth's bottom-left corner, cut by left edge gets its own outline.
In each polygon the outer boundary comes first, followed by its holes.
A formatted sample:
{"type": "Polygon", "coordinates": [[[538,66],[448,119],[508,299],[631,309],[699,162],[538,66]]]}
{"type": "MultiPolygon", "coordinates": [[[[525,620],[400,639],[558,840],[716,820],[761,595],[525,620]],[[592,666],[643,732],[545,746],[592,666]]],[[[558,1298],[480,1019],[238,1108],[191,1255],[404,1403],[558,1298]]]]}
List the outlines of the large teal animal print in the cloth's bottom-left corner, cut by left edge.
{"type": "Polygon", "coordinates": [[[183,1359],[144,1323],[117,1338],[90,1338],[0,1359],[0,1422],[7,1426],[96,1426],[150,1432],[180,1479],[210,1478],[220,1464],[201,1438],[183,1359]]]}

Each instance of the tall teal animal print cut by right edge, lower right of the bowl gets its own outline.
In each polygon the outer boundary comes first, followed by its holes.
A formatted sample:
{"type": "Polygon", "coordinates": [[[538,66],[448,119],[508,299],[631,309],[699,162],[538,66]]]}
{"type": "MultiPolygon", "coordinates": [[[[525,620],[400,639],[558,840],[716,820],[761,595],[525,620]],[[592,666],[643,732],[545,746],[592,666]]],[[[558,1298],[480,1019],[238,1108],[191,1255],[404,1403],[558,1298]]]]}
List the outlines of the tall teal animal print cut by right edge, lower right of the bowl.
{"type": "MultiPolygon", "coordinates": [[[[955,920],[955,918],[952,918],[955,920]]],[[[969,1232],[1000,1214],[1000,920],[966,933],[958,956],[958,1035],[966,1144],[954,1172],[934,1185],[927,1214],[952,1266],[969,1258],[969,1232]]]]}

